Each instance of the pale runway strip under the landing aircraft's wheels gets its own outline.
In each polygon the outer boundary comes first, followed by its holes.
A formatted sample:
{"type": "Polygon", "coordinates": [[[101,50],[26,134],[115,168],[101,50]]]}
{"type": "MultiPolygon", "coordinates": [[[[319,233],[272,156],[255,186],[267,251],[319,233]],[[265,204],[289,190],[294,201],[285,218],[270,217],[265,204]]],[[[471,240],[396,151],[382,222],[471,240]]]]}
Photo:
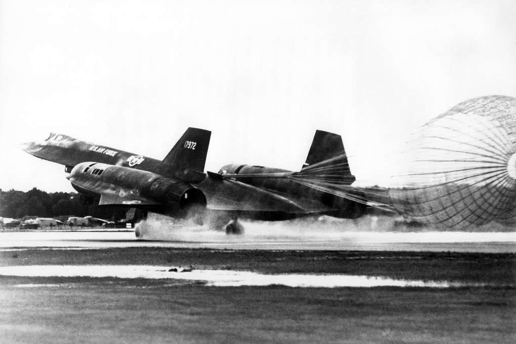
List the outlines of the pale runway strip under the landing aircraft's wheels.
{"type": "Polygon", "coordinates": [[[359,250],[515,253],[516,233],[464,232],[328,232],[224,233],[182,230],[138,240],[133,231],[0,232],[0,250],[24,248],[102,249],[125,247],[208,248],[233,250],[359,250]]]}

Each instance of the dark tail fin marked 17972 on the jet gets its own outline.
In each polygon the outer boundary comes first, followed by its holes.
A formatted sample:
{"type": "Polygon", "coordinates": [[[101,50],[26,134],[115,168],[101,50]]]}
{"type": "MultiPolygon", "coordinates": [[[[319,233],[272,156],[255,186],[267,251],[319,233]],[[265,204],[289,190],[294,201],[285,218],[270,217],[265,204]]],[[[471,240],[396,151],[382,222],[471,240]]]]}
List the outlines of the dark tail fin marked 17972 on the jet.
{"type": "Polygon", "coordinates": [[[163,159],[162,164],[172,169],[203,172],[211,135],[212,132],[209,130],[188,128],[163,159]]]}

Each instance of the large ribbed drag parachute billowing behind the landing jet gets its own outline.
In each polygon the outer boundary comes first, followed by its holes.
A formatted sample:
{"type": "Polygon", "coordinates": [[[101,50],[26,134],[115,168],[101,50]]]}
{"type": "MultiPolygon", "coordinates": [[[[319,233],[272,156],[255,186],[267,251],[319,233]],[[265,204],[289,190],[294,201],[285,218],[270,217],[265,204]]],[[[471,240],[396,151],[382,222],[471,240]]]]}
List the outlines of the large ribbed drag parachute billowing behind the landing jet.
{"type": "Polygon", "coordinates": [[[516,223],[516,99],[483,96],[423,125],[389,195],[400,214],[455,230],[516,223]]]}

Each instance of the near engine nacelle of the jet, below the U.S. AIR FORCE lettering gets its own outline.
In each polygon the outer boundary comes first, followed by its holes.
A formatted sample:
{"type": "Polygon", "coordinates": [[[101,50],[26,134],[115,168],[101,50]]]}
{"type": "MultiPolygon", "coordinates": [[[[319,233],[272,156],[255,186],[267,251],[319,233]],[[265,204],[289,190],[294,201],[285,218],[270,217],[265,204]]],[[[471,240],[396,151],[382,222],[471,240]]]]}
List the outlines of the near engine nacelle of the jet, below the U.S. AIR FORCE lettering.
{"type": "Polygon", "coordinates": [[[68,177],[80,192],[114,195],[120,198],[144,198],[161,204],[184,206],[206,203],[204,194],[192,185],[178,179],[99,162],[82,162],[68,177]]]}

